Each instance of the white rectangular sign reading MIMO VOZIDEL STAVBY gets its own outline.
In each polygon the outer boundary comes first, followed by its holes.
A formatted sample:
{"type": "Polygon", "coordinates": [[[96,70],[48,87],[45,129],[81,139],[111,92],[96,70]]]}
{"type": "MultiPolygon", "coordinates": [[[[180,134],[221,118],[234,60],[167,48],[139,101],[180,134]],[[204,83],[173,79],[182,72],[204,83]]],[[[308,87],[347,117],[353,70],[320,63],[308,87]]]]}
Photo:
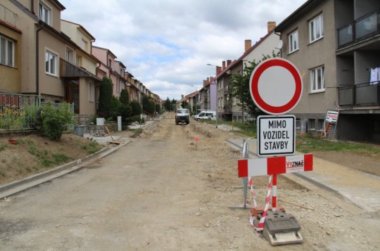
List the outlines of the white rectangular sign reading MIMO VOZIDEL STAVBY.
{"type": "Polygon", "coordinates": [[[296,151],[296,117],[258,117],[258,156],[294,155],[296,151]]]}

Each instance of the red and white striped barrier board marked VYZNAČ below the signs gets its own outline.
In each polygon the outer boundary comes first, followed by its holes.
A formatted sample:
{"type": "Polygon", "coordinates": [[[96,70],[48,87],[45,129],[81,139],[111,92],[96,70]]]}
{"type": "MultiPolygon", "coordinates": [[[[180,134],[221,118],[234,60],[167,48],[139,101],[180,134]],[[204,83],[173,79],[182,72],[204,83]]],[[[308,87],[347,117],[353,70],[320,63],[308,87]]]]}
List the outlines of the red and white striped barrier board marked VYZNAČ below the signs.
{"type": "Polygon", "coordinates": [[[312,171],[312,154],[238,160],[239,178],[312,171]]]}

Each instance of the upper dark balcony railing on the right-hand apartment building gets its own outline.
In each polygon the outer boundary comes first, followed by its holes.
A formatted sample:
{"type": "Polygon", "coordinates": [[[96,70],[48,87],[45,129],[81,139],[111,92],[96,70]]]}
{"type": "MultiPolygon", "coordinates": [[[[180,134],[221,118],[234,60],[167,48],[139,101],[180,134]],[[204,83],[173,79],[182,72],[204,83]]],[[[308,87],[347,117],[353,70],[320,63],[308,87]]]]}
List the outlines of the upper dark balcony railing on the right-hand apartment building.
{"type": "Polygon", "coordinates": [[[338,29],[338,48],[380,34],[380,11],[374,11],[338,29]]]}

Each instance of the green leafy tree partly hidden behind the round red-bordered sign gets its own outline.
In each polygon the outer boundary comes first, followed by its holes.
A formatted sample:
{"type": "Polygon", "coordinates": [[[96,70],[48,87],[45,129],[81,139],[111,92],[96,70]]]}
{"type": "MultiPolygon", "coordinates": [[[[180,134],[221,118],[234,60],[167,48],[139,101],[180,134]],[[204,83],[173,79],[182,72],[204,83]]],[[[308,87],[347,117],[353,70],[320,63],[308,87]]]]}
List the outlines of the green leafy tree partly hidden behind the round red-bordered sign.
{"type": "MultiPolygon", "coordinates": [[[[279,53],[275,54],[274,51],[272,51],[272,58],[276,58],[278,56],[279,53]]],[[[233,74],[229,77],[232,95],[239,100],[238,105],[241,107],[241,110],[248,112],[251,117],[258,117],[258,115],[265,114],[256,107],[251,98],[249,80],[253,70],[255,70],[255,67],[258,66],[261,61],[267,60],[268,58],[271,58],[271,56],[263,55],[262,60],[258,61],[258,63],[256,63],[255,60],[253,60],[253,62],[249,62],[248,65],[244,63],[245,67],[242,75],[233,74]]]]}

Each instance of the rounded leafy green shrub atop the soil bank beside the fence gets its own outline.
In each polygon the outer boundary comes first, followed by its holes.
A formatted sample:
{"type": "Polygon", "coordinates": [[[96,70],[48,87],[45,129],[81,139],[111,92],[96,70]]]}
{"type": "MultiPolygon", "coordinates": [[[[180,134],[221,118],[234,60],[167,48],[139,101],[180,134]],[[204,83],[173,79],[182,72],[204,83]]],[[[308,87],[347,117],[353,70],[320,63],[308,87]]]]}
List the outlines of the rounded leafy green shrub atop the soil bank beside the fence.
{"type": "Polygon", "coordinates": [[[41,134],[48,136],[51,141],[59,141],[68,125],[75,124],[75,113],[69,109],[68,103],[58,107],[52,107],[49,103],[39,108],[38,120],[41,134]]]}

